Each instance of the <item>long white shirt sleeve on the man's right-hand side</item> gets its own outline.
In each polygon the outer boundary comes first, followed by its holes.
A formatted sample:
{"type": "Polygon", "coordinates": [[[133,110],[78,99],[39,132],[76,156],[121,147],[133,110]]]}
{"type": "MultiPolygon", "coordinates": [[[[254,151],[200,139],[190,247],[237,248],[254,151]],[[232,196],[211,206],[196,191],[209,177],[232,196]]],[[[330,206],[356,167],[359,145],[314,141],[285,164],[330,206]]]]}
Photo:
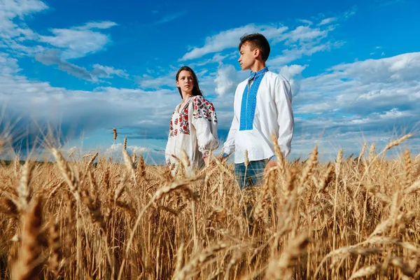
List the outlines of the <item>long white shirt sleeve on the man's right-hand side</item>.
{"type": "Polygon", "coordinates": [[[291,150],[295,121],[292,110],[292,90],[290,83],[279,77],[275,87],[275,101],[277,107],[277,123],[279,124],[279,138],[277,143],[280,146],[283,156],[286,157],[291,150]]]}

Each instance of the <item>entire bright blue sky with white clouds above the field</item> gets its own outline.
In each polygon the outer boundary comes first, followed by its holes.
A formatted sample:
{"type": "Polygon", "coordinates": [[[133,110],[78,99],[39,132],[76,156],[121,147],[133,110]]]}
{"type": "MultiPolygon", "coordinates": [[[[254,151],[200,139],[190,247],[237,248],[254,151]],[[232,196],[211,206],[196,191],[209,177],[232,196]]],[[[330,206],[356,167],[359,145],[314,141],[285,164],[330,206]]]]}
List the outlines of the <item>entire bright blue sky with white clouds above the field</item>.
{"type": "MultiPolygon", "coordinates": [[[[258,31],[272,46],[267,66],[293,87],[290,158],[315,145],[324,159],[358,154],[364,141],[380,148],[417,131],[419,12],[414,0],[0,0],[0,135],[18,134],[25,150],[59,127],[64,151],[80,154],[120,153],[127,137],[130,151],[160,163],[185,64],[216,107],[223,141],[248,76],[239,38],[258,31]]],[[[418,135],[406,145],[419,153],[418,135]]]]}

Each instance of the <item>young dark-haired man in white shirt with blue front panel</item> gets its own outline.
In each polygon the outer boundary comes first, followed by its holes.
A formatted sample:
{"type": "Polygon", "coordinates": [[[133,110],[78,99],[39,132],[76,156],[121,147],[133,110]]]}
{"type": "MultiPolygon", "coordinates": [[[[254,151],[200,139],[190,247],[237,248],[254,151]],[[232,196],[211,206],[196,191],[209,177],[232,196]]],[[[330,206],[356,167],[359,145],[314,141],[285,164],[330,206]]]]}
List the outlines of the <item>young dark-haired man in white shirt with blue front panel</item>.
{"type": "Polygon", "coordinates": [[[232,125],[223,146],[223,158],[235,152],[235,176],[241,189],[259,183],[264,172],[276,165],[272,133],[283,156],[290,153],[294,129],[292,92],[283,76],[265,66],[269,51],[262,34],[241,37],[238,61],[243,71],[251,70],[251,76],[237,86],[232,125]]]}

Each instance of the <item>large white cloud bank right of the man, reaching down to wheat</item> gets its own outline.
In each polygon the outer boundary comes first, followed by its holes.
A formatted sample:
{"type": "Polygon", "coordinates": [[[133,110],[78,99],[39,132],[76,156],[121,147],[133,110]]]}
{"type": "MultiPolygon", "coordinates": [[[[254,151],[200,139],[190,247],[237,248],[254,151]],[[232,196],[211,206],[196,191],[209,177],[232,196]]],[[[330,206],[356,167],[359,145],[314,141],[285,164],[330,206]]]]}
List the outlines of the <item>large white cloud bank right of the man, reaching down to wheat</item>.
{"type": "MultiPolygon", "coordinates": [[[[383,148],[389,139],[419,125],[420,52],[367,59],[331,67],[326,73],[301,80],[293,99],[293,155],[306,156],[315,144],[324,159],[339,148],[358,153],[364,141],[383,148]],[[385,140],[384,140],[385,139],[385,140]],[[310,148],[306,148],[310,147],[310,148]]],[[[420,152],[419,139],[407,141],[420,152]]]]}

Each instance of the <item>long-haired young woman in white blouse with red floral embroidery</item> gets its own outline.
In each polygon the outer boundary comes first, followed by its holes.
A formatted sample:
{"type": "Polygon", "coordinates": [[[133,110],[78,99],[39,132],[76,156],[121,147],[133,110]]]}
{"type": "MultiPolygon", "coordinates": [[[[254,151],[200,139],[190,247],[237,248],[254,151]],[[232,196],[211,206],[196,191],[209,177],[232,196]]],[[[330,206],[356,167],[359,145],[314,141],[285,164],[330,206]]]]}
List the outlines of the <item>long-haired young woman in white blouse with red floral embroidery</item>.
{"type": "MultiPolygon", "coordinates": [[[[218,148],[217,118],[213,104],[204,99],[193,69],[182,66],[176,73],[182,102],[175,107],[169,126],[165,151],[167,165],[178,166],[182,150],[186,151],[190,166],[186,174],[192,174],[207,164],[209,152],[218,148]]],[[[175,174],[176,169],[174,169],[175,174]]]]}

